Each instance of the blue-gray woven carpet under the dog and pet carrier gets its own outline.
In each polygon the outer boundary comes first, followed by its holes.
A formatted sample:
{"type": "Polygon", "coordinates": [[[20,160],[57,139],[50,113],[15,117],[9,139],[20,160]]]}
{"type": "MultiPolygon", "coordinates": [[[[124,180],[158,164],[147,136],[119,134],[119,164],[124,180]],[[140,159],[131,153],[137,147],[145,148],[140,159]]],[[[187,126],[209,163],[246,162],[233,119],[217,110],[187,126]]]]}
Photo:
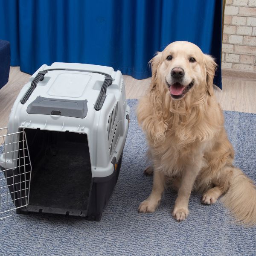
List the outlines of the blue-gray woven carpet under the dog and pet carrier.
{"type": "MultiPolygon", "coordinates": [[[[138,214],[151,191],[143,175],[146,143],[137,126],[136,100],[129,100],[131,123],[122,168],[100,222],[61,215],[18,215],[0,221],[0,255],[256,255],[256,227],[233,224],[220,201],[205,206],[190,198],[190,215],[171,216],[175,192],[165,193],[157,212],[138,214]]],[[[226,129],[236,150],[235,164],[256,181],[256,115],[225,111],[226,129]]]]}

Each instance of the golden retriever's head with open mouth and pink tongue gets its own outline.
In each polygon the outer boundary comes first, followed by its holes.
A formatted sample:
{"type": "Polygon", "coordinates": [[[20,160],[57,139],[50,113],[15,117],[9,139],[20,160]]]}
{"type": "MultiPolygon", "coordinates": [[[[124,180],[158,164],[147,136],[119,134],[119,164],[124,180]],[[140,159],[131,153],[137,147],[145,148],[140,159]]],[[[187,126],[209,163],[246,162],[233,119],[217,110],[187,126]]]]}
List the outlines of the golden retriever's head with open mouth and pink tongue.
{"type": "Polygon", "coordinates": [[[173,99],[188,93],[213,94],[213,77],[217,64],[195,44],[177,41],[158,52],[151,60],[152,89],[163,86],[173,99]]]}

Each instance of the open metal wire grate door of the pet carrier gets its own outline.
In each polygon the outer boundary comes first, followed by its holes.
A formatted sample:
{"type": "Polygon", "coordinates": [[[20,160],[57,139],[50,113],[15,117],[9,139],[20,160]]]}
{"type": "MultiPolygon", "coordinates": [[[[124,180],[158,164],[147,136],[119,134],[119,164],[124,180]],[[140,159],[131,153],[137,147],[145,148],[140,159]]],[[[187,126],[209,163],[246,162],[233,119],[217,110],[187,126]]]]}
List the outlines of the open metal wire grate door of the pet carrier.
{"type": "Polygon", "coordinates": [[[0,128],[3,142],[0,151],[0,219],[12,216],[15,209],[28,205],[31,162],[26,134],[19,131],[8,134],[0,128]]]}

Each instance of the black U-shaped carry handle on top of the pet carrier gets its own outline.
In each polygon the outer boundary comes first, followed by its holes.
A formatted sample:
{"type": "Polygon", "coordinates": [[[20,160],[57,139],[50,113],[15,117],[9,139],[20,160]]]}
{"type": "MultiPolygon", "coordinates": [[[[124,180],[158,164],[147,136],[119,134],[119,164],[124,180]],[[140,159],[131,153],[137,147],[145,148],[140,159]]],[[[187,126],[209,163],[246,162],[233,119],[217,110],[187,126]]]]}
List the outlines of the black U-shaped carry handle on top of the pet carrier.
{"type": "Polygon", "coordinates": [[[39,71],[38,74],[35,76],[35,78],[32,80],[31,86],[29,87],[29,90],[27,90],[26,94],[24,97],[20,100],[21,104],[25,104],[27,100],[29,99],[29,96],[32,94],[32,92],[35,90],[35,87],[37,86],[39,81],[44,80],[44,75],[48,73],[49,71],[54,71],[54,70],[67,70],[67,71],[79,71],[79,72],[87,72],[87,73],[98,73],[103,76],[105,76],[105,80],[102,84],[102,88],[100,90],[98,99],[96,100],[94,109],[96,111],[99,111],[102,109],[102,105],[105,101],[105,98],[107,96],[107,88],[112,84],[112,77],[109,74],[98,72],[98,71],[91,71],[91,70],[79,70],[79,69],[69,69],[69,68],[53,68],[49,70],[43,70],[39,71]]]}

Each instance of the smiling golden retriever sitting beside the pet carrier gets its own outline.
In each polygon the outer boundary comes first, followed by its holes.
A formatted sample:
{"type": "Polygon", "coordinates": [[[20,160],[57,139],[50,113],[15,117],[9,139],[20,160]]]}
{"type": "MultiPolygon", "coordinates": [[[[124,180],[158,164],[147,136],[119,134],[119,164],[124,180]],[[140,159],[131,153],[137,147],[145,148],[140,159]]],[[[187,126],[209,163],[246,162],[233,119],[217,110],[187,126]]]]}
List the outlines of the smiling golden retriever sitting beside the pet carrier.
{"type": "Polygon", "coordinates": [[[139,212],[154,212],[166,183],[177,188],[172,216],[189,215],[192,189],[202,203],[224,204],[237,221],[256,224],[256,187],[233,166],[234,150],[224,128],[224,117],[213,93],[216,64],[195,44],[169,44],[151,60],[152,81],[140,100],[137,118],[146,134],[153,188],[139,212]]]}

